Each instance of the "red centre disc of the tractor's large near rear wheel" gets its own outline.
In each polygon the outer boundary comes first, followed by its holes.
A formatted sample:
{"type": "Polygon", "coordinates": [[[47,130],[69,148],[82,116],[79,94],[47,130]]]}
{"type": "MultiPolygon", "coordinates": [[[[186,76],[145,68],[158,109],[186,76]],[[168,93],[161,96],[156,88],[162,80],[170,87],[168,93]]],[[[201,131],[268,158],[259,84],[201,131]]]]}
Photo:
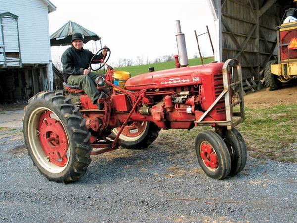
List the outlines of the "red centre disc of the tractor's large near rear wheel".
{"type": "Polygon", "coordinates": [[[55,114],[46,111],[38,123],[39,140],[48,161],[64,167],[68,162],[68,140],[60,120],[52,118],[55,114]]]}

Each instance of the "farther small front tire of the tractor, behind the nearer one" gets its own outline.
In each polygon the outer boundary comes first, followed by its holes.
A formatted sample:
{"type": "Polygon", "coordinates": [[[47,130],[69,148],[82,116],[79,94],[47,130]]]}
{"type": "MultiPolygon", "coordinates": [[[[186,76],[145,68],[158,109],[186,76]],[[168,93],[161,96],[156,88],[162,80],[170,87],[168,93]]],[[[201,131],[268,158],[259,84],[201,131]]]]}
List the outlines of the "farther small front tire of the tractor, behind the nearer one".
{"type": "Polygon", "coordinates": [[[222,137],[228,147],[231,157],[231,170],[229,175],[234,176],[243,170],[246,165],[246,143],[241,134],[235,128],[232,130],[224,130],[222,137]]]}

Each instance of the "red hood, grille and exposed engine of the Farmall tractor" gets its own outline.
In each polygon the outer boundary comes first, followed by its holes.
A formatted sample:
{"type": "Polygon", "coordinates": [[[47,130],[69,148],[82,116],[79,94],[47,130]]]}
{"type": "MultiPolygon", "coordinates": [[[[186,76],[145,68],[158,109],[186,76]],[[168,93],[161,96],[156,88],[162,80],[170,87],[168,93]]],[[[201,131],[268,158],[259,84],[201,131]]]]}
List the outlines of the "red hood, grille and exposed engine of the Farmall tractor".
{"type": "MultiPolygon", "coordinates": [[[[156,71],[130,78],[126,89],[147,89],[152,105],[144,105],[140,114],[151,115],[160,128],[194,127],[194,121],[206,111],[223,91],[223,63],[156,71]]],[[[217,104],[206,120],[226,118],[224,101],[217,104]]]]}

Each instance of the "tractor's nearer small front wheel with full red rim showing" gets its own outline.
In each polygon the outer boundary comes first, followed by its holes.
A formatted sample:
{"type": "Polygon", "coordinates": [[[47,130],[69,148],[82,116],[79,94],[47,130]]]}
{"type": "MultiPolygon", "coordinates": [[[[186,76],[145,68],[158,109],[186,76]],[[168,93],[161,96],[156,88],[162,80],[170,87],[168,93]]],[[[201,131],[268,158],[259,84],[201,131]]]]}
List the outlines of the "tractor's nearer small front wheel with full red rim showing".
{"type": "Polygon", "coordinates": [[[213,131],[203,131],[195,139],[198,162],[213,179],[224,179],[231,170],[231,158],[223,139],[213,131]]]}

